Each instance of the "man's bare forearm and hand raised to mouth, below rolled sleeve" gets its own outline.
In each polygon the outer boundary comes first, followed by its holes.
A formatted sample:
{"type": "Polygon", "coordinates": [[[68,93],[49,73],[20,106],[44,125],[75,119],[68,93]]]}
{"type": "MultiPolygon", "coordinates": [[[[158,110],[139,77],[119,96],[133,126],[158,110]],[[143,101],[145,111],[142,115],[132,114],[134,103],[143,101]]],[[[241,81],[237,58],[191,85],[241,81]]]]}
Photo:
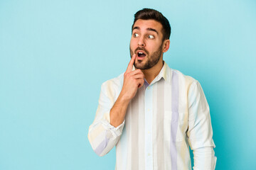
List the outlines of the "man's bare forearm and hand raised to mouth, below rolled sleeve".
{"type": "Polygon", "coordinates": [[[110,110],[110,124],[114,127],[119,126],[124,121],[129,101],[134,98],[137,90],[144,84],[144,74],[142,73],[142,70],[137,69],[132,71],[132,65],[134,64],[135,58],[136,55],[133,55],[128,64],[127,70],[124,73],[122,91],[110,110]]]}

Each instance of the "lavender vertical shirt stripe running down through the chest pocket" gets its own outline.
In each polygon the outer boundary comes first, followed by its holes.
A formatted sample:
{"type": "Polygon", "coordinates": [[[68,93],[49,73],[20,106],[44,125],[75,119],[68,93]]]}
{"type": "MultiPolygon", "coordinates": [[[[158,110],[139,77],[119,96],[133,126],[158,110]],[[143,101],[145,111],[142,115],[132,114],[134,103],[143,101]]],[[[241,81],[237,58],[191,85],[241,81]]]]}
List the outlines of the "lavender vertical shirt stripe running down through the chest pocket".
{"type": "Polygon", "coordinates": [[[171,169],[177,170],[176,134],[178,129],[178,74],[173,72],[171,82],[171,169]]]}

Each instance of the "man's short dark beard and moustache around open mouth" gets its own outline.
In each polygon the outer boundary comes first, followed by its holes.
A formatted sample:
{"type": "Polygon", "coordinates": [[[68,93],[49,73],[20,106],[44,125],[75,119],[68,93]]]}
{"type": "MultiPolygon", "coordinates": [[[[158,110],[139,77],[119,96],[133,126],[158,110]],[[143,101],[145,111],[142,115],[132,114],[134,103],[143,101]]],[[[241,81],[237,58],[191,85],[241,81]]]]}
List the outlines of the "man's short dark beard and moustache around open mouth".
{"type": "MultiPolygon", "coordinates": [[[[135,67],[136,69],[151,69],[152,67],[154,67],[154,66],[159,62],[159,60],[160,60],[160,57],[161,57],[161,54],[162,54],[162,52],[161,52],[162,47],[163,47],[163,45],[160,45],[159,49],[156,50],[155,52],[153,52],[151,55],[149,55],[149,52],[148,52],[147,50],[145,50],[144,48],[142,48],[142,47],[137,47],[137,49],[135,50],[135,52],[136,52],[137,50],[144,50],[144,52],[146,52],[146,58],[147,58],[147,60],[144,59],[144,60],[146,60],[146,63],[145,63],[145,64],[142,64],[143,60],[137,60],[137,62],[136,62],[136,60],[135,60],[135,62],[134,62],[134,67],[135,67]]],[[[132,50],[131,50],[131,48],[130,48],[130,55],[131,55],[131,58],[132,58],[132,55],[133,55],[133,54],[134,54],[134,53],[132,52],[132,50]]]]}

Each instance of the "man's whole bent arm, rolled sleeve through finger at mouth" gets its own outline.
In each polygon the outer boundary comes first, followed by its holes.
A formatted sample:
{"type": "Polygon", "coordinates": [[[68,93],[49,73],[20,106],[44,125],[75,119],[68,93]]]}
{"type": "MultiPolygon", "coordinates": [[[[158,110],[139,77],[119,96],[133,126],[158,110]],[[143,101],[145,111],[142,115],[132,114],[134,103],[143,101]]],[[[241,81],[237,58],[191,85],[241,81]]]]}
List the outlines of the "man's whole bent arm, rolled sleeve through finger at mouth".
{"type": "Polygon", "coordinates": [[[142,71],[139,69],[132,71],[134,60],[135,55],[124,73],[122,91],[117,101],[114,102],[113,96],[109,96],[106,93],[107,84],[102,84],[95,120],[90,125],[88,132],[88,139],[92,149],[99,156],[104,156],[117,144],[124,128],[124,118],[129,101],[135,96],[137,89],[144,84],[142,71]]]}

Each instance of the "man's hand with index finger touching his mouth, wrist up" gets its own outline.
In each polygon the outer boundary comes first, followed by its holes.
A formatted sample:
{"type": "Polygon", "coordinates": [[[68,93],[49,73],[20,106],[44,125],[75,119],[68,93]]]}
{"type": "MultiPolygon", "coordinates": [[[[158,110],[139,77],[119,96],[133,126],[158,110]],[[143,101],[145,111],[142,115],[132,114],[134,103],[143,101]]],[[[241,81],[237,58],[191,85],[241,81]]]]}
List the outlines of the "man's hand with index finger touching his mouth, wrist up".
{"type": "Polygon", "coordinates": [[[126,72],[124,72],[124,84],[120,93],[120,97],[128,101],[134,98],[137,93],[137,89],[142,87],[144,84],[144,74],[142,73],[142,70],[136,69],[132,71],[135,58],[136,55],[134,54],[128,64],[126,72]]]}

